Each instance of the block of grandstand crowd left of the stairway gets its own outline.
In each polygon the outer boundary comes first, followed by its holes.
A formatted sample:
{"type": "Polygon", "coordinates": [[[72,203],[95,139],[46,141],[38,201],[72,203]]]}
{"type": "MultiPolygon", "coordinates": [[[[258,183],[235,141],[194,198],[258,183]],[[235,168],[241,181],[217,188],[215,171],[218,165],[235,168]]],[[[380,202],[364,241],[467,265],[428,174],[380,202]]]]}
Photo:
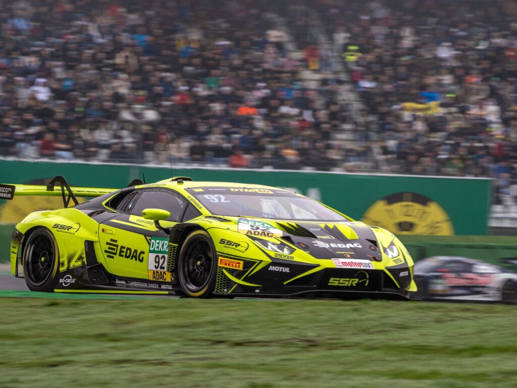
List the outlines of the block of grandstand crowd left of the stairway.
{"type": "Polygon", "coordinates": [[[303,87],[261,4],[4,3],[2,155],[168,162],[169,137],[174,162],[343,160],[330,141],[344,120],[335,85],[303,87]]]}

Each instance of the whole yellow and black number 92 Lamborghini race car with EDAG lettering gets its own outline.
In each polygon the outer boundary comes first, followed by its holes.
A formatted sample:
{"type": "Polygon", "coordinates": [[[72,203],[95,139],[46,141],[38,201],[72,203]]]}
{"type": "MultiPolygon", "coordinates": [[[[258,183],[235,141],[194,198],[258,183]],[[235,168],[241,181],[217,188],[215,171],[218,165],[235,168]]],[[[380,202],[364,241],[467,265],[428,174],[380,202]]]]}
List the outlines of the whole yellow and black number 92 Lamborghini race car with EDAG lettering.
{"type": "Polygon", "coordinates": [[[416,291],[396,236],[282,188],[173,177],[104,189],[57,176],[0,193],[63,197],[64,208],[31,213],[12,234],[12,274],[33,291],[391,299],[416,291]]]}

